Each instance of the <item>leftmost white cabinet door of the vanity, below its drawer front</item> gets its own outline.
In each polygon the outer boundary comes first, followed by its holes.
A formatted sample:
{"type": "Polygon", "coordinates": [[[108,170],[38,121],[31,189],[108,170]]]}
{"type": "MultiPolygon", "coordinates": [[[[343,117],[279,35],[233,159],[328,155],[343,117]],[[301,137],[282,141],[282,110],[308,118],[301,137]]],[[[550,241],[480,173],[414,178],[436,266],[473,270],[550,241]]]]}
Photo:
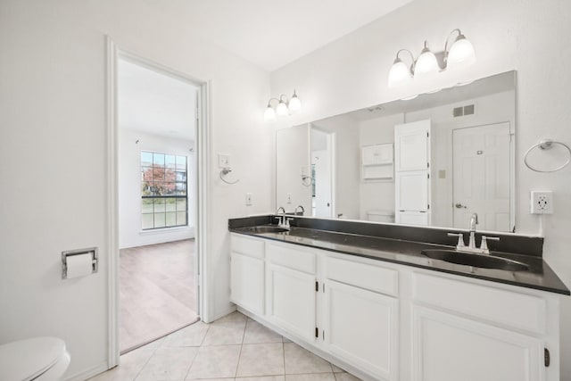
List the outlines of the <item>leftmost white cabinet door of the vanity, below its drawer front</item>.
{"type": "Polygon", "coordinates": [[[264,314],[264,261],[240,253],[231,254],[230,299],[248,311],[264,314]]]}

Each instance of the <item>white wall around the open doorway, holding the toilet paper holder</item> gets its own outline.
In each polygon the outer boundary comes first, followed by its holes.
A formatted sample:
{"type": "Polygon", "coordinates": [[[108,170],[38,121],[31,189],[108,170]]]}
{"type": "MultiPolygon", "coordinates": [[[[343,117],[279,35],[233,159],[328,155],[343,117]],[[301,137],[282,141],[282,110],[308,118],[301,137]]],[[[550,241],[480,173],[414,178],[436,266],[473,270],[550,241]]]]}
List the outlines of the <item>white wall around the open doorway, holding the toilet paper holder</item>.
{"type": "Polygon", "coordinates": [[[145,2],[0,2],[0,176],[11,184],[0,187],[0,343],[62,337],[66,377],[86,377],[108,359],[106,34],[124,50],[211,79],[211,159],[230,154],[240,178],[229,186],[211,170],[211,317],[232,309],[228,218],[273,204],[273,128],[262,122],[268,73],[145,2]],[[100,249],[99,272],[62,280],[62,251],[89,246],[100,249]]]}

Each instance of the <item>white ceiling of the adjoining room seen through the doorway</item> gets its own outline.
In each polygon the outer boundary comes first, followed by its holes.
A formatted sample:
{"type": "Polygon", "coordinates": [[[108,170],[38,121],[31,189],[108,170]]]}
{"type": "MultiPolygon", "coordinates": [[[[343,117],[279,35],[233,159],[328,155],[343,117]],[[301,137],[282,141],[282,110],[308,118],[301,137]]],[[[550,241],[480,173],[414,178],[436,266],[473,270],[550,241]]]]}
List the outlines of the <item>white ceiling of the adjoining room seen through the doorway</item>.
{"type": "Polygon", "coordinates": [[[198,87],[124,59],[117,70],[120,128],[194,141],[198,87]]]}

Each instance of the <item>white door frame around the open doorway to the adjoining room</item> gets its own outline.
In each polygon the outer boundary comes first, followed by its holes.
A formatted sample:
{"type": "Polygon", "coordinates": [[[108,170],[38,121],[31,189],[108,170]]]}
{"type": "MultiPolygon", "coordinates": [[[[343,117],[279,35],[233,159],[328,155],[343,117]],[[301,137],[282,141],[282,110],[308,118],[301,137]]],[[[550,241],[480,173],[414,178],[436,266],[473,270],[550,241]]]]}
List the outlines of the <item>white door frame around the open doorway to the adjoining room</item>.
{"type": "Polygon", "coordinates": [[[210,223],[210,188],[208,177],[211,168],[211,81],[194,79],[186,73],[172,70],[160,63],[145,59],[119,48],[111,37],[106,36],[106,129],[107,129],[107,247],[108,253],[108,352],[107,368],[119,365],[119,140],[117,125],[117,61],[120,56],[141,63],[155,70],[186,79],[200,87],[198,92],[196,123],[196,170],[194,171],[194,210],[196,212],[196,258],[198,276],[198,311],[201,318],[210,321],[208,292],[209,241],[207,232],[210,223]]]}

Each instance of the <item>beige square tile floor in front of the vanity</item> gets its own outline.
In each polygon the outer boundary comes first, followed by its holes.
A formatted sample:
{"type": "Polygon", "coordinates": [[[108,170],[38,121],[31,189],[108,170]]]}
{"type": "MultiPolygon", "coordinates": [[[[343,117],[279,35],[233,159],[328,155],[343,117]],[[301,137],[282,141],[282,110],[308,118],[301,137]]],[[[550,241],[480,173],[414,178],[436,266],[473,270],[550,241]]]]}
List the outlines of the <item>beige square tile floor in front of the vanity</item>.
{"type": "Polygon", "coordinates": [[[185,327],[121,356],[91,381],[356,381],[239,312],[185,327]]]}

